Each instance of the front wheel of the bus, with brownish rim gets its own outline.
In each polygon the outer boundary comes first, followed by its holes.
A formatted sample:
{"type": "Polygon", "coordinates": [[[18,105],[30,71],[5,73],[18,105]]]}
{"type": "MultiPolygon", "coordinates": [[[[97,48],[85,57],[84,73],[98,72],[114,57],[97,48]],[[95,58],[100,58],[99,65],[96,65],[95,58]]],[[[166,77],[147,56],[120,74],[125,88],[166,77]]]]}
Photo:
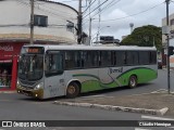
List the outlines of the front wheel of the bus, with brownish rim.
{"type": "Polygon", "coordinates": [[[79,87],[76,82],[71,82],[66,89],[66,98],[76,98],[79,94],[79,87]]]}

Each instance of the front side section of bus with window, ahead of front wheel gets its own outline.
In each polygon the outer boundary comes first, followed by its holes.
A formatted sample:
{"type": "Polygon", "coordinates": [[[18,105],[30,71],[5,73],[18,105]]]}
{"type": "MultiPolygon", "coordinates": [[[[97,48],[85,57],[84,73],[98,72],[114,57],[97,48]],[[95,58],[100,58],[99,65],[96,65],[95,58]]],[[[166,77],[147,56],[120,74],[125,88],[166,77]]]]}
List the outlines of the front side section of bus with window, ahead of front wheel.
{"type": "Polygon", "coordinates": [[[47,51],[45,63],[45,98],[64,95],[63,54],[47,51]]]}

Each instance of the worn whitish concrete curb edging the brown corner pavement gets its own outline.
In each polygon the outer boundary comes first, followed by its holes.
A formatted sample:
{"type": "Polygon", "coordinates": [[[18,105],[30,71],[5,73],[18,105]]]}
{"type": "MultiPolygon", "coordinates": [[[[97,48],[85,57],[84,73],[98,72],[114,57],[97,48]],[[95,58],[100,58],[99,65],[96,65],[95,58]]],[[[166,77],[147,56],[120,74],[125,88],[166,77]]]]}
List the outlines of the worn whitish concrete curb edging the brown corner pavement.
{"type": "Polygon", "coordinates": [[[122,110],[122,112],[132,112],[132,113],[140,113],[140,114],[151,114],[151,115],[161,115],[161,116],[163,116],[169,110],[167,107],[164,107],[162,109],[146,109],[146,108],[134,108],[134,107],[101,105],[101,104],[90,104],[90,103],[72,103],[72,102],[61,102],[61,101],[54,101],[53,104],[79,106],[79,107],[88,107],[88,108],[99,108],[99,109],[107,109],[107,110],[122,110]]]}

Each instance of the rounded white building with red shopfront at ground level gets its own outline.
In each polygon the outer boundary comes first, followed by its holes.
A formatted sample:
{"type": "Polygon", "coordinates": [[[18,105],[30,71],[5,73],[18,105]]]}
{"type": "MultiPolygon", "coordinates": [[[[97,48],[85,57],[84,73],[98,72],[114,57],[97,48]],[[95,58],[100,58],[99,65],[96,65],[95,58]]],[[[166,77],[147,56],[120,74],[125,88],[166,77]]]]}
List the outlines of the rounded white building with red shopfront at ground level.
{"type": "MultiPolygon", "coordinates": [[[[0,1],[0,90],[15,89],[18,54],[30,38],[29,1],[0,1]]],[[[34,43],[76,43],[75,9],[47,0],[34,4],[34,43]]]]}

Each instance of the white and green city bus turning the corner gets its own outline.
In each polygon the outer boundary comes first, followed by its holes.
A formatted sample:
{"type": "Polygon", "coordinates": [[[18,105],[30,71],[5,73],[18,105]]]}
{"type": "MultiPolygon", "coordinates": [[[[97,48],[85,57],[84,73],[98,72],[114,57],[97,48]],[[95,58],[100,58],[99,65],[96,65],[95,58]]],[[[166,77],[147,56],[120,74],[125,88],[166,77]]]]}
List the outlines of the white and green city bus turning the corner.
{"type": "Polygon", "coordinates": [[[32,44],[21,50],[16,90],[37,99],[75,98],[157,77],[153,47],[32,44]]]}

